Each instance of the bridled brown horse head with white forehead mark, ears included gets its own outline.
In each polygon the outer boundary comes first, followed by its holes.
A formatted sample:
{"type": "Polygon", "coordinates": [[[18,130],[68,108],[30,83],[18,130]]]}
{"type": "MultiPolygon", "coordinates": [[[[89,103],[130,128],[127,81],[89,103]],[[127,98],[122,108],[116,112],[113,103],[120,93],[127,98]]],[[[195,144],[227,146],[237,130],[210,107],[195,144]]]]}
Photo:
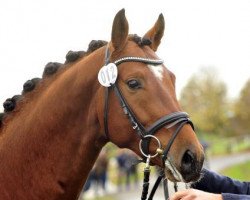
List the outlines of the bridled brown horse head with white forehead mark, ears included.
{"type": "Polygon", "coordinates": [[[164,27],[161,14],[142,38],[129,35],[124,9],[117,13],[105,49],[108,67],[99,72],[98,119],[111,142],[150,157],[170,180],[190,182],[199,178],[204,153],[181,112],[175,75],[155,53],[164,27]]]}

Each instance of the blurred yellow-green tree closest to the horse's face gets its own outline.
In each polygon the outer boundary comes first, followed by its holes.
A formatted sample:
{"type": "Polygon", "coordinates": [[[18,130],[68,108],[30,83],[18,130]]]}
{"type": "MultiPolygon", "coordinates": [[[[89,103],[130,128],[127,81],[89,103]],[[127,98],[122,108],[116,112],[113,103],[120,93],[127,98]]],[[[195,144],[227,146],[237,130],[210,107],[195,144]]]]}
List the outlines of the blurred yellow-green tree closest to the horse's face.
{"type": "Polygon", "coordinates": [[[227,122],[225,84],[213,68],[202,68],[183,88],[181,106],[187,111],[198,131],[221,133],[227,122]]]}

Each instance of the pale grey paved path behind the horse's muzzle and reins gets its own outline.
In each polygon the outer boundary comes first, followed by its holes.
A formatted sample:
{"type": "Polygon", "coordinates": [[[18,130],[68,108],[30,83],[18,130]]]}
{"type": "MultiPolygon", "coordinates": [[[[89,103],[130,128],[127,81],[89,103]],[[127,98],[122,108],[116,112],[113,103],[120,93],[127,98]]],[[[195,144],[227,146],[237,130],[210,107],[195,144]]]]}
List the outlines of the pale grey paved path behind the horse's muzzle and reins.
{"type": "MultiPolygon", "coordinates": [[[[246,160],[250,160],[250,152],[241,153],[241,154],[233,154],[229,156],[223,156],[223,157],[216,157],[216,158],[210,158],[209,160],[209,168],[213,171],[220,171],[226,167],[229,167],[234,164],[239,164],[242,162],[245,162],[246,160]]],[[[150,185],[154,184],[155,177],[151,178],[150,185]]],[[[179,184],[178,189],[184,189],[184,184],[179,184]]],[[[172,183],[169,183],[169,188],[173,188],[172,183]]],[[[139,200],[141,197],[141,186],[132,187],[130,190],[121,190],[118,191],[116,186],[108,184],[107,188],[108,194],[112,194],[112,197],[114,200],[139,200]]],[[[151,191],[151,189],[149,190],[151,191]]],[[[170,195],[173,193],[173,191],[170,191],[170,195]]],[[[97,196],[102,196],[103,192],[101,191],[99,194],[95,194],[95,191],[89,191],[87,194],[85,194],[84,200],[93,200],[98,199],[97,196]]],[[[164,194],[163,194],[163,188],[158,188],[156,191],[154,199],[156,200],[165,200],[164,194]]]]}

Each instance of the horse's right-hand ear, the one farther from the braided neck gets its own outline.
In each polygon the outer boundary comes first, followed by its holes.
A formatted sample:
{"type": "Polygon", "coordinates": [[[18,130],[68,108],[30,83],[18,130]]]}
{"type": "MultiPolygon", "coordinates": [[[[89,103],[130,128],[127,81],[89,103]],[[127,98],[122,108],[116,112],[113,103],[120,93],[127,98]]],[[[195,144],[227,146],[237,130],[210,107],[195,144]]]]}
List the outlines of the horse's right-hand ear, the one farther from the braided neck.
{"type": "Polygon", "coordinates": [[[157,50],[158,46],[161,43],[161,38],[164,34],[164,29],[165,29],[165,20],[163,15],[160,14],[154,26],[143,37],[151,40],[152,43],[150,47],[154,51],[157,50]]]}

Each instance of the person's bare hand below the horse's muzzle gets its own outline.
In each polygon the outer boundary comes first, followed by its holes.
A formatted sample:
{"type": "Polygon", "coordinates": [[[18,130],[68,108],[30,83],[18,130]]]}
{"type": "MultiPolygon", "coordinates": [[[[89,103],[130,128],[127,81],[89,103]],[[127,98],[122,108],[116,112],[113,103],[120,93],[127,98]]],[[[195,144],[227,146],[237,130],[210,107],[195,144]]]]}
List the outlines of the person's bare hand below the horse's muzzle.
{"type": "Polygon", "coordinates": [[[222,200],[222,195],[188,189],[176,192],[169,200],[222,200]]]}

